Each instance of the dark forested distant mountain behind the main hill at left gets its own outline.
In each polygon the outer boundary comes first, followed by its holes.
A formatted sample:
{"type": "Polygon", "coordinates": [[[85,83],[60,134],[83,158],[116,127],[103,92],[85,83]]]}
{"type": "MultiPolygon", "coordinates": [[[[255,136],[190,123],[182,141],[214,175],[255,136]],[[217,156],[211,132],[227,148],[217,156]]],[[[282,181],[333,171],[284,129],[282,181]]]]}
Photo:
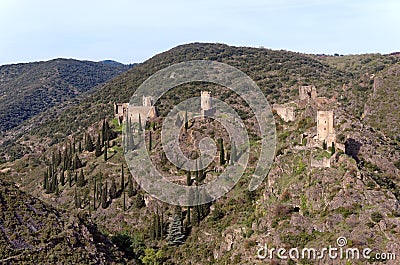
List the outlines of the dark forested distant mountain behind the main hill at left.
{"type": "Polygon", "coordinates": [[[0,66],[0,132],[69,101],[130,67],[73,59],[0,66]]]}

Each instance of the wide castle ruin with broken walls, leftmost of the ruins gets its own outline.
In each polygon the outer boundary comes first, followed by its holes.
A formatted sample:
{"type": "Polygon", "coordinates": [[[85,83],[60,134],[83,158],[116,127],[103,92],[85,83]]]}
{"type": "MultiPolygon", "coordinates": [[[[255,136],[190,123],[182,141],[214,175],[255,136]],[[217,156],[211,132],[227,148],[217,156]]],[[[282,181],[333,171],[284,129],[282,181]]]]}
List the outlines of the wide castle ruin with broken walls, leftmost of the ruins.
{"type": "Polygon", "coordinates": [[[153,106],[152,97],[143,96],[142,106],[132,106],[129,103],[114,103],[114,117],[118,119],[119,124],[124,123],[126,118],[138,123],[140,116],[141,123],[144,126],[147,115],[149,115],[149,118],[158,116],[157,109],[153,106]]]}

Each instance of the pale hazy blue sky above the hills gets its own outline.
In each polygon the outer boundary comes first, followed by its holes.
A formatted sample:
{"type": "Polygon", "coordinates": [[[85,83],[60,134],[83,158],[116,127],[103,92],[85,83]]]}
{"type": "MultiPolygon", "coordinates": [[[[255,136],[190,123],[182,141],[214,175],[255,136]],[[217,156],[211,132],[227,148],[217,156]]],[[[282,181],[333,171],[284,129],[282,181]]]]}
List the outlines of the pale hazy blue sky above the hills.
{"type": "Polygon", "coordinates": [[[305,53],[400,51],[398,0],[0,0],[0,64],[141,62],[189,42],[305,53]]]}

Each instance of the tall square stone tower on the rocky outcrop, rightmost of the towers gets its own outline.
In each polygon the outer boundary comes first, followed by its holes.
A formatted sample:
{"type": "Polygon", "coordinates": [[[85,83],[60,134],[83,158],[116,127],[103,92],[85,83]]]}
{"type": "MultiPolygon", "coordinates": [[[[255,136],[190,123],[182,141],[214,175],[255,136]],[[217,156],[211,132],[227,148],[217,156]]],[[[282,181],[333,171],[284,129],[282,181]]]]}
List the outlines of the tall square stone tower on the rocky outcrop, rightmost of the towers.
{"type": "Polygon", "coordinates": [[[325,141],[328,146],[335,143],[335,131],[333,127],[333,111],[317,112],[317,139],[325,141]]]}

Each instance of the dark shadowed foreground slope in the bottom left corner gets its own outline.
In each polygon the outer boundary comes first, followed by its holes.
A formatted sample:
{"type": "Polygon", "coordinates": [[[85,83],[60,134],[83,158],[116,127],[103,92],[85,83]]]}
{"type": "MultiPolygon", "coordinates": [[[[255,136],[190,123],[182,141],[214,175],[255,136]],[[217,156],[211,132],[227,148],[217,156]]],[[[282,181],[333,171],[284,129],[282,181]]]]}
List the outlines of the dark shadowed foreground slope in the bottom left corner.
{"type": "Polygon", "coordinates": [[[123,261],[85,215],[70,216],[0,179],[1,264],[111,264],[123,261]]]}

